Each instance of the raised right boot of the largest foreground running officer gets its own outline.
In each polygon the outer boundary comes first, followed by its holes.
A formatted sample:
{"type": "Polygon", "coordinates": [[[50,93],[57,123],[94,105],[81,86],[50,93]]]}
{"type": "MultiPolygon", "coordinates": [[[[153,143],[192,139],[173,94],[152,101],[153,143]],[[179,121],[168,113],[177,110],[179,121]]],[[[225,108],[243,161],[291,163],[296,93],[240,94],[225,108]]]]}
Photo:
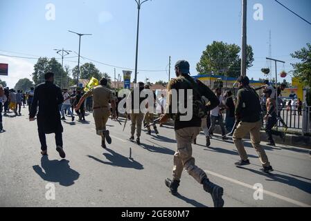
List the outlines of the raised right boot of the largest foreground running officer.
{"type": "Polygon", "coordinates": [[[224,189],[210,182],[205,178],[202,182],[204,191],[211,193],[215,207],[224,206],[224,200],[222,200],[222,195],[224,194],[224,189]]]}

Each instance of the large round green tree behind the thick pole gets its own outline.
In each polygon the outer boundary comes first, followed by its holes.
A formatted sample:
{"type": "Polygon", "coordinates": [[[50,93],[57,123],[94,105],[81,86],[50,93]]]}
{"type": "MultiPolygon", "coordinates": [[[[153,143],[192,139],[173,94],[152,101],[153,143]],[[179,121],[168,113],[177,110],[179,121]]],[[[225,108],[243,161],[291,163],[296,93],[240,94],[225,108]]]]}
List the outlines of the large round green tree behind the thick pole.
{"type": "MultiPolygon", "coordinates": [[[[241,75],[241,59],[239,56],[241,48],[236,44],[227,44],[222,41],[213,41],[206,46],[203,55],[197,63],[197,71],[213,75],[226,75],[227,77],[239,77],[241,75]]],[[[247,46],[247,68],[254,61],[253,48],[247,46]]]]}

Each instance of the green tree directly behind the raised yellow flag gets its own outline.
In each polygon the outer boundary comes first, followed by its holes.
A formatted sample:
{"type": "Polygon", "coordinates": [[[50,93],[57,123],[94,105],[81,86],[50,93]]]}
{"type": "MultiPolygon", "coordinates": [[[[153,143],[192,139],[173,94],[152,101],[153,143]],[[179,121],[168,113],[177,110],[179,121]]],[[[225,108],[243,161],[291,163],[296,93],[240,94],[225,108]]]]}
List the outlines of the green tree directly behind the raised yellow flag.
{"type": "MultiPolygon", "coordinates": [[[[78,66],[75,66],[72,70],[73,79],[77,79],[78,77],[78,66]]],[[[100,70],[96,68],[93,63],[85,63],[80,66],[80,75],[79,79],[91,79],[91,77],[95,77],[100,80],[103,77],[103,74],[100,73],[100,70]]]]}

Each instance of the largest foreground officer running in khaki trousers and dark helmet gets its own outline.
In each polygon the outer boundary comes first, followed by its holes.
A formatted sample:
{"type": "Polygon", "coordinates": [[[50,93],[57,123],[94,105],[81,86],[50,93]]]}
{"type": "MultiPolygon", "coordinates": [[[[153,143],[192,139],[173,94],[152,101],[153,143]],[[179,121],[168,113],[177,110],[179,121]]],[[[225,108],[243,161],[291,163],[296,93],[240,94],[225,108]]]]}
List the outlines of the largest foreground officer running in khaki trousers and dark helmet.
{"type": "Polygon", "coordinates": [[[180,183],[181,173],[185,169],[189,175],[199,182],[199,184],[203,184],[204,191],[211,193],[214,206],[222,207],[224,206],[224,200],[222,200],[224,190],[222,187],[217,186],[208,180],[206,173],[195,165],[195,159],[192,156],[193,150],[191,143],[201,131],[201,118],[193,114],[189,121],[182,121],[179,109],[176,117],[172,115],[172,106],[175,106],[172,102],[178,102],[178,104],[182,102],[185,102],[184,104],[187,103],[186,101],[188,97],[186,92],[184,93],[184,97],[179,97],[179,90],[193,89],[193,104],[195,104],[196,99],[199,97],[198,93],[206,97],[210,102],[210,104],[206,106],[208,111],[220,104],[216,95],[207,86],[205,86],[201,81],[195,81],[192,77],[190,77],[190,75],[188,75],[190,73],[189,69],[190,65],[188,61],[177,61],[177,64],[175,64],[175,73],[177,77],[172,79],[168,84],[166,113],[162,115],[160,119],[160,123],[163,124],[167,122],[169,118],[175,118],[175,135],[177,141],[177,151],[174,155],[173,179],[166,179],[165,183],[170,189],[170,193],[172,193],[172,195],[177,195],[177,188],[180,183]],[[172,100],[172,90],[177,90],[177,101],[172,100]]]}

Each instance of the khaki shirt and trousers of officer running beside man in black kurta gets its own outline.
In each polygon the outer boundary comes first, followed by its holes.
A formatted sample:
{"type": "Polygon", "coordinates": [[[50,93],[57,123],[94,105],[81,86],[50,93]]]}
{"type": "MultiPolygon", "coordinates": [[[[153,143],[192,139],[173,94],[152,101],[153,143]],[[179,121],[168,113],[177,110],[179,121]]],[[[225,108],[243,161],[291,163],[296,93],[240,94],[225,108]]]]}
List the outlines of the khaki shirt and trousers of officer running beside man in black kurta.
{"type": "Polygon", "coordinates": [[[109,90],[106,86],[96,86],[92,90],[85,93],[84,97],[90,97],[93,95],[93,117],[95,120],[95,127],[97,135],[102,136],[102,140],[105,141],[105,137],[101,131],[106,130],[106,123],[111,115],[109,101],[112,101],[112,90],[109,90]]]}

